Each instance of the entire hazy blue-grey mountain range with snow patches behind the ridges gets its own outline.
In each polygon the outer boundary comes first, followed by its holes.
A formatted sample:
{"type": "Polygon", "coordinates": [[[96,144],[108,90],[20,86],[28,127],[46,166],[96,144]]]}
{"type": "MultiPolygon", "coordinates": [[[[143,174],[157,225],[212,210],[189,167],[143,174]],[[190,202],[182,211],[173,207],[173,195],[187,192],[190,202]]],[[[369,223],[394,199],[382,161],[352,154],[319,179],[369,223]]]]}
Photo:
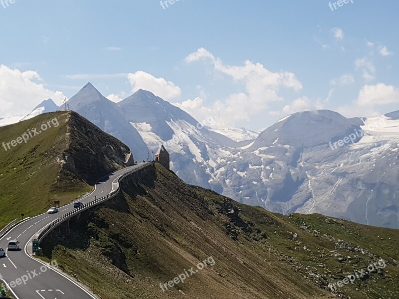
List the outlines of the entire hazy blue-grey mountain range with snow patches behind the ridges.
{"type": "Polygon", "coordinates": [[[188,183],[274,212],[399,228],[399,111],[370,119],[301,112],[257,134],[212,130],[144,90],[116,104],[88,84],[68,104],[136,159],[164,145],[188,183]]]}

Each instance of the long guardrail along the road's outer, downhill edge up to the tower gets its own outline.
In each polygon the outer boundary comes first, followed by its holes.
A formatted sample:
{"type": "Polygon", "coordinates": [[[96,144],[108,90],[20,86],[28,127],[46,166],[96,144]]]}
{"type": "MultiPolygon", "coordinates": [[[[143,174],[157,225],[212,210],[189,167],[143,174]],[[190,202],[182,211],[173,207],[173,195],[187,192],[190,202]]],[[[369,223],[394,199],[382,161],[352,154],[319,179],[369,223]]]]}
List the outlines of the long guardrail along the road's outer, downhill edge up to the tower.
{"type": "Polygon", "coordinates": [[[56,228],[58,225],[60,225],[61,223],[65,222],[66,220],[72,218],[73,216],[76,216],[77,214],[92,208],[93,206],[96,206],[100,203],[103,203],[107,200],[110,200],[111,198],[115,197],[119,191],[120,191],[120,187],[119,187],[119,182],[121,180],[123,180],[125,177],[127,177],[128,175],[135,173],[141,169],[144,169],[150,165],[153,165],[154,162],[147,162],[147,163],[143,163],[143,165],[134,168],[126,173],[124,173],[119,179],[118,179],[118,189],[116,189],[115,191],[112,191],[110,194],[105,195],[103,197],[97,198],[96,200],[93,200],[89,203],[86,203],[85,205],[82,205],[79,208],[74,209],[73,211],[68,212],[67,214],[61,216],[60,218],[58,218],[57,220],[51,222],[48,226],[46,226],[44,228],[44,230],[39,234],[39,236],[37,237],[37,239],[39,240],[39,243],[44,239],[45,236],[47,236],[48,233],[50,233],[54,228],[56,228]]]}

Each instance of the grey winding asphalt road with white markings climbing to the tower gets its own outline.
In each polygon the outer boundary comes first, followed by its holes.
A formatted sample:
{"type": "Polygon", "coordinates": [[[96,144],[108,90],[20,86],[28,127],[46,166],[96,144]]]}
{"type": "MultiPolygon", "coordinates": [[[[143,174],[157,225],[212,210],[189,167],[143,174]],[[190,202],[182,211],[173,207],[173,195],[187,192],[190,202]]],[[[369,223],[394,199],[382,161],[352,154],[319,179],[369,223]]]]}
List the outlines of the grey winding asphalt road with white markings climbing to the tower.
{"type": "MultiPolygon", "coordinates": [[[[151,163],[149,163],[151,164],[151,163]]],[[[97,181],[92,193],[79,201],[86,204],[110,194],[119,188],[118,178],[143,164],[129,166],[112,172],[97,181]]],[[[7,251],[0,258],[0,279],[6,283],[16,299],[93,299],[95,296],[84,290],[74,281],[30,256],[32,239],[48,224],[73,210],[73,203],[58,209],[55,214],[41,214],[26,220],[11,229],[0,240],[0,248],[6,250],[9,240],[17,239],[19,251],[7,251]],[[25,282],[23,282],[24,280],[25,282]]],[[[55,264],[55,263],[54,263],[55,264]]]]}

